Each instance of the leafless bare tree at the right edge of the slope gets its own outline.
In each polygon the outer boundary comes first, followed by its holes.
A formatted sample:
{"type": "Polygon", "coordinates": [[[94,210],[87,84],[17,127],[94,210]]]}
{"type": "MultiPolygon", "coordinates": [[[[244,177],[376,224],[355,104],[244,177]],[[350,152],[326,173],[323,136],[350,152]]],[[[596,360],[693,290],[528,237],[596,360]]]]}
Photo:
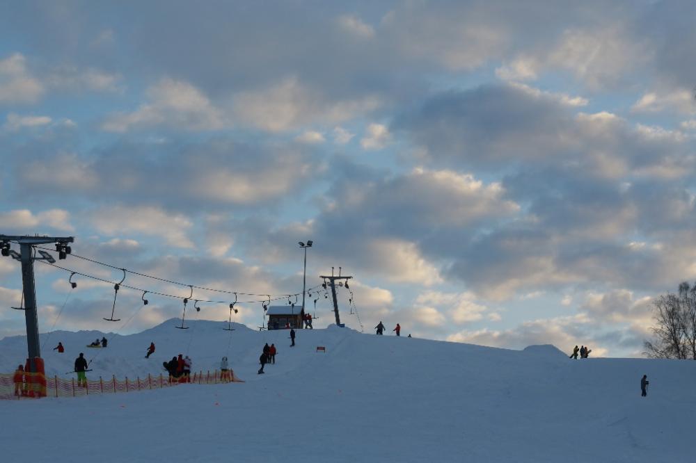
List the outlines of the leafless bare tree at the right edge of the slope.
{"type": "Polygon", "coordinates": [[[644,354],[662,359],[696,359],[696,284],[679,285],[679,293],[654,301],[654,341],[645,341],[644,354]]]}

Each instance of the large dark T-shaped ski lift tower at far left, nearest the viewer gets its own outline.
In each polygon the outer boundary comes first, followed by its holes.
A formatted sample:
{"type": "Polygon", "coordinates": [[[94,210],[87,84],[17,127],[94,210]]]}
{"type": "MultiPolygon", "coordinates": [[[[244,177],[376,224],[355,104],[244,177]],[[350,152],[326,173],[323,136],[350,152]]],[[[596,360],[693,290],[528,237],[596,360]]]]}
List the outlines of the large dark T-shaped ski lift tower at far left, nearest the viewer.
{"type": "Polygon", "coordinates": [[[36,250],[36,245],[55,243],[58,259],[65,259],[71,249],[72,236],[10,236],[0,234],[0,250],[4,257],[11,256],[22,262],[22,294],[24,295],[24,318],[26,320],[26,346],[29,351],[29,370],[31,373],[44,373],[41,347],[39,343],[39,325],[36,314],[36,290],[34,286],[34,261],[55,263],[56,259],[44,250],[36,250]],[[19,253],[11,249],[11,243],[19,244],[19,253]],[[35,256],[35,251],[41,257],[35,256]]]}

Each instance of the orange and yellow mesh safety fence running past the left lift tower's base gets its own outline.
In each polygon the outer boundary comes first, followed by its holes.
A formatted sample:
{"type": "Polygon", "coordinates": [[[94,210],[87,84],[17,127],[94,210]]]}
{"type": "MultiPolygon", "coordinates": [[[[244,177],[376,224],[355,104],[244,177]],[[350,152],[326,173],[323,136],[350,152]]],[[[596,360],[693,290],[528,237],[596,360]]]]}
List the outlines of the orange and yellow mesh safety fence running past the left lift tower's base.
{"type": "MultiPolygon", "coordinates": [[[[15,377],[15,374],[0,373],[0,399],[19,399],[31,398],[38,396],[33,393],[36,387],[39,387],[37,381],[33,381],[35,376],[40,373],[24,373],[22,379],[15,377]],[[17,381],[15,381],[17,380],[17,381]]],[[[43,376],[43,375],[41,375],[43,376]]],[[[235,373],[230,371],[207,371],[203,373],[193,373],[186,377],[168,377],[164,375],[141,378],[136,377],[134,380],[126,377],[124,380],[116,379],[116,376],[99,377],[99,380],[87,379],[87,386],[80,386],[77,378],[61,378],[58,376],[46,377],[46,396],[47,397],[77,397],[88,396],[90,394],[116,393],[116,392],[134,392],[144,391],[147,389],[162,389],[165,387],[177,386],[179,384],[195,383],[195,384],[220,384],[226,382],[244,382],[235,376],[235,373]]]]}

